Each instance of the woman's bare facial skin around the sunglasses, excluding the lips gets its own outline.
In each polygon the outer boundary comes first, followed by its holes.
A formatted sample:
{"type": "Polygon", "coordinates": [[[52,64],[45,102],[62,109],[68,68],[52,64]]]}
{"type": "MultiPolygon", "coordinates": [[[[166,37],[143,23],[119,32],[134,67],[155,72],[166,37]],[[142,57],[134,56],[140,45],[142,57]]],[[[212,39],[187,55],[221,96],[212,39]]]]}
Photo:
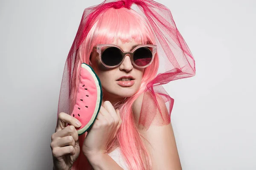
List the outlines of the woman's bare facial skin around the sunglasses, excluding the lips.
{"type": "MultiPolygon", "coordinates": [[[[112,44],[118,45],[123,51],[131,51],[134,45],[140,45],[134,41],[122,43],[121,40],[116,40],[112,44]]],[[[121,100],[123,97],[132,96],[139,90],[144,68],[134,67],[128,55],[125,56],[124,61],[119,65],[119,67],[112,69],[108,69],[102,65],[99,59],[99,54],[95,51],[92,53],[90,61],[92,63],[93,70],[96,72],[102,83],[102,88],[104,89],[104,100],[108,100],[113,103],[121,100]],[[124,88],[116,83],[116,79],[128,75],[131,75],[135,79],[133,86],[124,88]]]]}

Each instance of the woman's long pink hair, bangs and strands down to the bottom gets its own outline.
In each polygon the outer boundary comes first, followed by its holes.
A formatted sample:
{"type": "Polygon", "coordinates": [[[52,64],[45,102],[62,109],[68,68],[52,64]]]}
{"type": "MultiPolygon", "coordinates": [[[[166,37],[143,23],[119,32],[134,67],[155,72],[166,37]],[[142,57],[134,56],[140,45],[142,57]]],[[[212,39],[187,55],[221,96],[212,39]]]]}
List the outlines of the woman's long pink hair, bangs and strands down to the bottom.
{"type": "MultiPolygon", "coordinates": [[[[90,64],[90,54],[93,46],[97,44],[111,44],[116,39],[120,39],[123,43],[134,40],[142,44],[156,44],[154,33],[146,20],[133,9],[128,8],[109,8],[104,14],[101,14],[98,19],[93,21],[93,27],[89,31],[87,37],[82,42],[77,53],[78,62],[75,63],[76,69],[72,77],[71,85],[71,108],[76,101],[76,89],[79,84],[79,72],[82,62],[90,64]]],[[[140,134],[134,123],[134,114],[132,105],[140,94],[145,90],[149,81],[157,74],[159,65],[158,54],[156,53],[154,61],[150,66],[145,68],[142,83],[139,91],[131,97],[124,98],[119,103],[113,104],[115,108],[119,108],[122,118],[122,125],[116,134],[115,139],[107,146],[107,150],[118,144],[122,151],[129,169],[131,170],[150,170],[151,160],[149,154],[143,145],[140,134]]],[[[103,89],[104,90],[104,89],[103,89]]],[[[86,157],[82,153],[82,145],[86,133],[79,136],[80,155],[73,164],[72,170],[90,169],[86,157]]]]}

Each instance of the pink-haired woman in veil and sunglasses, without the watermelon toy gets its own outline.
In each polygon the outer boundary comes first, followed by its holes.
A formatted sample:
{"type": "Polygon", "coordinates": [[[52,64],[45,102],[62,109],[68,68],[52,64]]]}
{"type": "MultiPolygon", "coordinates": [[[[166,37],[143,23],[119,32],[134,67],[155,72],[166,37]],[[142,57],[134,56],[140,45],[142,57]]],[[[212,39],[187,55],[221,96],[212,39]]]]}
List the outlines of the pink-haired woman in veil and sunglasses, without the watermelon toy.
{"type": "Polygon", "coordinates": [[[170,121],[173,99],[161,84],[194,75],[192,54],[165,6],[121,0],[84,10],[61,84],[54,169],[181,169],[170,121]],[[99,44],[107,44],[101,55],[99,44]],[[83,62],[98,75],[103,102],[88,133],[78,136],[81,124],[70,113],[83,62]]]}

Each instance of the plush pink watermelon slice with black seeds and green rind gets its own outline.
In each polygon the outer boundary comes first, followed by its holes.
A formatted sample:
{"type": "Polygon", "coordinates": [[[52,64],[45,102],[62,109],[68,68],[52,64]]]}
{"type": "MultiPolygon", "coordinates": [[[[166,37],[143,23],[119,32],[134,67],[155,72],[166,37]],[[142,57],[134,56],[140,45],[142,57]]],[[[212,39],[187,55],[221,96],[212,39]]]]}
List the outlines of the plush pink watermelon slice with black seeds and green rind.
{"type": "Polygon", "coordinates": [[[93,125],[101,105],[102,85],[99,77],[90,65],[82,63],[76,105],[71,113],[82,124],[76,128],[78,135],[85,133],[93,125]]]}

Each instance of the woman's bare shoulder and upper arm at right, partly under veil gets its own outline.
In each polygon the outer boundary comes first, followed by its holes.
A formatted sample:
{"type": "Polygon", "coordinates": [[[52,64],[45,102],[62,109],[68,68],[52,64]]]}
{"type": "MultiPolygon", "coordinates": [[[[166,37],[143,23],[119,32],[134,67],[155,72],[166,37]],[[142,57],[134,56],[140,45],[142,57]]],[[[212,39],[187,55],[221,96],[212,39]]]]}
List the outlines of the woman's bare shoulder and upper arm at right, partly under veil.
{"type": "Polygon", "coordinates": [[[160,121],[163,119],[163,125],[152,124],[147,130],[138,127],[138,131],[141,139],[150,153],[152,161],[152,169],[175,169],[181,170],[180,158],[177,151],[176,141],[174,132],[172,129],[172,123],[170,121],[169,113],[165,105],[163,98],[156,94],[155,98],[150,93],[141,94],[134,102],[133,113],[135,116],[135,121],[138,125],[140,118],[140,111],[143,106],[143,97],[146,97],[147,108],[149,109],[147,113],[151,113],[150,109],[156,108],[155,104],[157,102],[158,108],[154,111],[156,116],[154,119],[160,121]],[[152,108],[151,108],[152,107],[152,108]]]}

